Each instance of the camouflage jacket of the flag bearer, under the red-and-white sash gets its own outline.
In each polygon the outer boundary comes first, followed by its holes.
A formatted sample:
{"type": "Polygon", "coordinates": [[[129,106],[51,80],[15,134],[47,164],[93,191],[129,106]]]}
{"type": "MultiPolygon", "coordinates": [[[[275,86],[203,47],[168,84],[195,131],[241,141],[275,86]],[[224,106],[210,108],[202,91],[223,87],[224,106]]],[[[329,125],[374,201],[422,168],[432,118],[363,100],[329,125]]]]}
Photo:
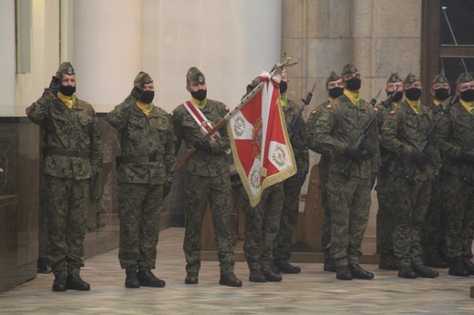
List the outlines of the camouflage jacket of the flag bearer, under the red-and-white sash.
{"type": "MultiPolygon", "coordinates": [[[[227,111],[228,109],[223,103],[209,98],[206,107],[201,110],[202,114],[214,125],[227,115],[227,111]]],[[[199,125],[182,104],[174,109],[171,120],[176,135],[177,150],[180,148],[182,140],[184,140],[186,148],[191,149],[194,147],[194,142],[204,136],[199,125]]],[[[219,129],[219,133],[222,137],[217,141],[211,141],[211,154],[198,150],[188,158],[186,161],[187,172],[209,178],[229,173],[226,151],[231,148],[231,144],[225,125],[219,129]]]]}

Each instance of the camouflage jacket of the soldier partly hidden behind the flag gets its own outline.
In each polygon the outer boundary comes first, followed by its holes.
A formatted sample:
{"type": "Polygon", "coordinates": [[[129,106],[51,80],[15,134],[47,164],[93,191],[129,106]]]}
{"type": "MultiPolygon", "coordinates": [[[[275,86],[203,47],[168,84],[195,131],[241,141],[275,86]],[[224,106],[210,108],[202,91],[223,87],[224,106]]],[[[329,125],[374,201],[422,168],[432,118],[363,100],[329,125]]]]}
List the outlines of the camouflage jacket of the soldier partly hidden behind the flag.
{"type": "MultiPolygon", "coordinates": [[[[294,116],[298,114],[299,110],[300,110],[300,106],[288,99],[288,105],[286,107],[283,107],[284,121],[286,123],[287,128],[290,127],[290,124],[292,123],[294,116]]],[[[304,122],[303,117],[300,119],[300,123],[298,127],[296,127],[296,130],[294,130],[293,137],[294,137],[294,140],[300,141],[304,144],[307,143],[306,123],[304,122]]],[[[303,170],[307,173],[309,169],[308,147],[305,146],[304,149],[293,147],[293,152],[294,152],[294,160],[296,162],[296,168],[298,168],[298,170],[303,170]]]]}

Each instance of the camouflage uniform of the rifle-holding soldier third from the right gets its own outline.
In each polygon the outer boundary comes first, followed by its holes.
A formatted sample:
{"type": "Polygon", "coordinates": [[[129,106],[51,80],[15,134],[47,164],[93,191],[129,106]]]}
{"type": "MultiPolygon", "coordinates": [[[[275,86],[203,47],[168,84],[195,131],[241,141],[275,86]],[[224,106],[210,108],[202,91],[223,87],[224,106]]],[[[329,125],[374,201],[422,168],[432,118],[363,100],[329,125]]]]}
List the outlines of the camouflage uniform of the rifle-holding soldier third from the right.
{"type": "Polygon", "coordinates": [[[382,145],[396,154],[393,192],[397,202],[393,242],[399,268],[423,265],[420,232],[428,208],[432,181],[440,163],[436,141],[431,141],[428,145],[436,153],[431,158],[430,165],[423,169],[416,168],[414,183],[410,183],[406,177],[416,166],[411,158],[412,151],[421,145],[432,122],[433,116],[428,108],[420,106],[420,113],[417,115],[405,100],[390,112],[382,127],[382,145]]]}

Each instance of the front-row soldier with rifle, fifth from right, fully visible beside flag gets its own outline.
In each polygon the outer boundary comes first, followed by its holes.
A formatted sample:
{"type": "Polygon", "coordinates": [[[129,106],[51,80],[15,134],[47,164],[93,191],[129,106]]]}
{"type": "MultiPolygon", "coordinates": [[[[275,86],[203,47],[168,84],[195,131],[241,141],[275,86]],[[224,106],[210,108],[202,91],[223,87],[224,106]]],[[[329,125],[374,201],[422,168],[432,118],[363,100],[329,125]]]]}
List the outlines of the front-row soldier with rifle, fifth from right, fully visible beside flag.
{"type": "Polygon", "coordinates": [[[370,211],[371,178],[380,163],[378,135],[373,129],[364,147],[354,144],[374,114],[374,108],[360,98],[361,78],[356,66],[342,72],[344,95],[316,122],[316,144],[330,151],[327,204],[332,215],[331,255],[336,279],[373,279],[374,274],[359,265],[361,245],[370,211]],[[342,169],[352,160],[348,174],[342,169]]]}

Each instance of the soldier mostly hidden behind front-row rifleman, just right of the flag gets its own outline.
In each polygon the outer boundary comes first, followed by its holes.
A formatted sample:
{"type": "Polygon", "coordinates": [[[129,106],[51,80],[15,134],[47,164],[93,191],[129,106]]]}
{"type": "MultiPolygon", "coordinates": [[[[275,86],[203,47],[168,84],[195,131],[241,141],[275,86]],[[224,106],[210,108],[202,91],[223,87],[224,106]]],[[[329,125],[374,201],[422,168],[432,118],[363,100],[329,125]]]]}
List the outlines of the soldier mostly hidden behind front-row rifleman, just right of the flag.
{"type": "Polygon", "coordinates": [[[325,218],[323,219],[323,238],[321,239],[321,247],[325,252],[325,264],[323,269],[325,271],[335,272],[335,259],[331,258],[331,212],[327,205],[327,191],[326,185],[329,178],[329,159],[331,157],[329,151],[325,151],[322,147],[316,145],[314,141],[314,130],[317,119],[325,111],[325,107],[333,104],[337,97],[342,96],[344,93],[343,80],[341,76],[331,72],[329,77],[326,79],[325,92],[328,95],[328,99],[319,105],[317,105],[311,112],[308,120],[306,121],[306,133],[308,138],[308,148],[316,153],[321,154],[321,158],[317,167],[319,168],[319,189],[321,190],[321,198],[323,208],[325,208],[325,218]]]}

